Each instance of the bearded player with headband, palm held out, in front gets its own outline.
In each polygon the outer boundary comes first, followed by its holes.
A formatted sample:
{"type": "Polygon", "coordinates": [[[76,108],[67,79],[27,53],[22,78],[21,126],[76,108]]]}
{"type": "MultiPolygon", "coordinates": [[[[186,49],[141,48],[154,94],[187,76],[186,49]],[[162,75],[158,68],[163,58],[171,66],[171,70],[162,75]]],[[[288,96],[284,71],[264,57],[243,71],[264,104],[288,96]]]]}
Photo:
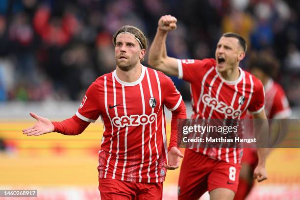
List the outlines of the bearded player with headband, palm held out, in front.
{"type": "Polygon", "coordinates": [[[162,199],[166,170],[179,166],[177,119],[186,109],[172,80],[141,64],[147,39],[134,26],[113,37],[116,70],[101,75],[88,88],[76,114],[62,122],[30,115],[38,122],[23,130],[27,136],[59,132],[80,134],[99,117],[104,133],[99,151],[102,200],[162,199]],[[167,149],[164,106],[172,111],[167,149]],[[168,163],[167,163],[168,159],[168,163]]]}

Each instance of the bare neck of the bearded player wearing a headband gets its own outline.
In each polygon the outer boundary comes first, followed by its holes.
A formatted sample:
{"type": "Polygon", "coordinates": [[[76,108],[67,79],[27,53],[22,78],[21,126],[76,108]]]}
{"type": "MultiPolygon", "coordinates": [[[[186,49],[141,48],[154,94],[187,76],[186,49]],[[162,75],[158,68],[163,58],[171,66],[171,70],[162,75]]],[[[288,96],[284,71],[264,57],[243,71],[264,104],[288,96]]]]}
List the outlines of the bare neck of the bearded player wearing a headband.
{"type": "Polygon", "coordinates": [[[134,68],[129,71],[123,71],[118,66],[116,69],[116,74],[120,80],[130,83],[137,81],[142,74],[142,65],[138,63],[134,68]]]}

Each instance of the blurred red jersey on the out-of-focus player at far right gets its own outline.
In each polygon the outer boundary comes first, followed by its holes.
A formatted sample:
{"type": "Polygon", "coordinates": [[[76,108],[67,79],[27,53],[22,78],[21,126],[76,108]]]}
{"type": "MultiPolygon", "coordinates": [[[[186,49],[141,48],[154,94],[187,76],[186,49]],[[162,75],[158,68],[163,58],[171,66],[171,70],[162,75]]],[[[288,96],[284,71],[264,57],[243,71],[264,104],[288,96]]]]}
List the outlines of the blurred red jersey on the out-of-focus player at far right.
{"type": "Polygon", "coordinates": [[[268,119],[288,118],[292,111],[282,87],[270,79],[265,85],[265,111],[268,119]]]}

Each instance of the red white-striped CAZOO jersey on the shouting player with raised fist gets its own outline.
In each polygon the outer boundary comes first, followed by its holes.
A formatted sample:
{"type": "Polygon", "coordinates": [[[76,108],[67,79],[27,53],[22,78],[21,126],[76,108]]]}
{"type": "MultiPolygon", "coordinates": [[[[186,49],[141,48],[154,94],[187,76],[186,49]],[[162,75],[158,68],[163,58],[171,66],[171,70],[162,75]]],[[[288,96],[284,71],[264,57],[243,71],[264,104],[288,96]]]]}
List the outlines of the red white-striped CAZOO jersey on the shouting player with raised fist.
{"type": "MultiPolygon", "coordinates": [[[[239,68],[240,76],[227,81],[216,69],[215,59],[178,60],[178,77],[190,82],[193,119],[243,119],[264,109],[261,81],[239,68]]],[[[240,148],[194,148],[213,159],[240,163],[240,148]]]]}

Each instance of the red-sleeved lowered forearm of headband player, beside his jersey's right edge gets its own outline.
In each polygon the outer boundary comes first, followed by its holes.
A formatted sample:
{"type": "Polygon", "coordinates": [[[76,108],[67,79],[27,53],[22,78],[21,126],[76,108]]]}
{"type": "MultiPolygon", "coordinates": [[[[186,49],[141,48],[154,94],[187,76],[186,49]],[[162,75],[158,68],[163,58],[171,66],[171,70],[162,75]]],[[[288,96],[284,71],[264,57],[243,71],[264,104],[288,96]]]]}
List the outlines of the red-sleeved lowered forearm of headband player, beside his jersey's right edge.
{"type": "Polygon", "coordinates": [[[178,132],[178,119],[186,119],[186,108],[183,100],[181,101],[179,107],[175,111],[172,111],[171,137],[168,151],[172,147],[179,148],[180,145],[181,133],[178,132]]]}

